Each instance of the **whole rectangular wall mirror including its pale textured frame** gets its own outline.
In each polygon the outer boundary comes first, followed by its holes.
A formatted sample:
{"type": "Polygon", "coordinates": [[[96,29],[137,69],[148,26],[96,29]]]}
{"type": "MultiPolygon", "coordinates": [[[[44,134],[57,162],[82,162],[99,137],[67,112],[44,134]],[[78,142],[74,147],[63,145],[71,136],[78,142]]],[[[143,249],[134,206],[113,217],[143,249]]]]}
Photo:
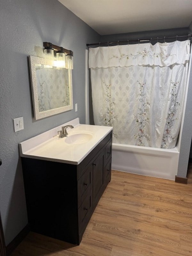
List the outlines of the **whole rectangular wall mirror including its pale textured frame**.
{"type": "Polygon", "coordinates": [[[29,63],[35,119],[73,109],[71,69],[45,65],[44,58],[35,56],[29,56],[29,63]]]}

